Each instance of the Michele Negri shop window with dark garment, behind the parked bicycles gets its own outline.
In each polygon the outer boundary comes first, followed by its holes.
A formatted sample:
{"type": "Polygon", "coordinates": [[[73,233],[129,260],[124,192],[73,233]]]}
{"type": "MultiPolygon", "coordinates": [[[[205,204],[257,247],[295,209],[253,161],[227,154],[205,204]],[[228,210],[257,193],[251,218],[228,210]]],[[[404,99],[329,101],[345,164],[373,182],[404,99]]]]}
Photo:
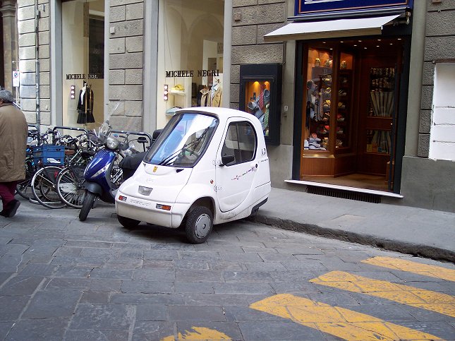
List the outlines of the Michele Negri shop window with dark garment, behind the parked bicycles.
{"type": "Polygon", "coordinates": [[[61,4],[63,126],[104,121],[104,0],[61,4]]]}

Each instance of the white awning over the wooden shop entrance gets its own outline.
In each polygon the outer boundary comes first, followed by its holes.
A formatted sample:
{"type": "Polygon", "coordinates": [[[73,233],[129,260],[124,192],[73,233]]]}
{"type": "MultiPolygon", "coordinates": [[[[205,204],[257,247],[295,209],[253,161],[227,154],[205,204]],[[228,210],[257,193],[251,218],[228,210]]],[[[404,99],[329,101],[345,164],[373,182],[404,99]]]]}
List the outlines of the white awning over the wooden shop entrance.
{"type": "Polygon", "coordinates": [[[351,18],[325,21],[294,22],[264,36],[265,42],[283,40],[310,40],[359,35],[380,35],[382,26],[398,18],[377,16],[373,18],[351,18]]]}

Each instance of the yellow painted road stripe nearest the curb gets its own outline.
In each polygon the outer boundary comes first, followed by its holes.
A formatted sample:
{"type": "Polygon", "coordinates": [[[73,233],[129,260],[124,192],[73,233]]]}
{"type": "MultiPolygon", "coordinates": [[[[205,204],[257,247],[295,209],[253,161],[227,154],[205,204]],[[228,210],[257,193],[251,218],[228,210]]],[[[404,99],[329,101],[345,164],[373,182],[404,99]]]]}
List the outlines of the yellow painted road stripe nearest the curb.
{"type": "Polygon", "coordinates": [[[442,266],[420,264],[413,261],[406,261],[406,259],[392,257],[373,257],[365,259],[362,263],[455,282],[455,270],[442,268],[442,266]]]}

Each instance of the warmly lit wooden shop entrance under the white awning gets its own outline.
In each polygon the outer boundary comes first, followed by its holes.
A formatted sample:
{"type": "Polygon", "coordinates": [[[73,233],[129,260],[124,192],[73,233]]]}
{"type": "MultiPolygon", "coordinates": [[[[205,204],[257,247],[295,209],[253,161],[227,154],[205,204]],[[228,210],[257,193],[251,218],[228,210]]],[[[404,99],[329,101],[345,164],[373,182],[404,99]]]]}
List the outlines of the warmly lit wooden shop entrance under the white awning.
{"type": "Polygon", "coordinates": [[[303,46],[300,179],[393,191],[401,39],[303,46]]]}

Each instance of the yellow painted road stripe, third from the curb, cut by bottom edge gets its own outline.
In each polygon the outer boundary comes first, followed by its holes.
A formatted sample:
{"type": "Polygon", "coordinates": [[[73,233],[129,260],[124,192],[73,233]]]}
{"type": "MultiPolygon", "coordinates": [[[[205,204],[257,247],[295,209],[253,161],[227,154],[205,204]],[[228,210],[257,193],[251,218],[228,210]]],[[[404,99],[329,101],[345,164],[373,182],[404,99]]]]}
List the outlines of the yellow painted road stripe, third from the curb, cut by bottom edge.
{"type": "Polygon", "coordinates": [[[291,294],[277,294],[250,305],[250,308],[291,321],[345,340],[440,340],[380,318],[339,306],[311,301],[291,294]]]}

